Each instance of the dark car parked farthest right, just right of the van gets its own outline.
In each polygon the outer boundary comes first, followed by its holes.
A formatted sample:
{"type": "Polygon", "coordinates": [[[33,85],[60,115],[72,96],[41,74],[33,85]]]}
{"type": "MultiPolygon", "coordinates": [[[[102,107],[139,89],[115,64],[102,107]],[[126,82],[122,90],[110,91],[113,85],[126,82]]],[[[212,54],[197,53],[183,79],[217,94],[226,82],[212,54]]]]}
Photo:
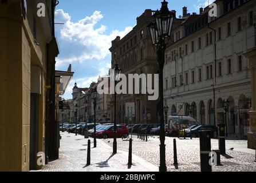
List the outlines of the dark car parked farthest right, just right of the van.
{"type": "Polygon", "coordinates": [[[209,126],[209,125],[195,126],[191,130],[190,129],[187,130],[186,135],[189,137],[191,133],[192,137],[199,137],[199,131],[202,131],[202,130],[211,130],[211,138],[215,138],[218,136],[218,128],[216,128],[216,126],[209,126]]]}

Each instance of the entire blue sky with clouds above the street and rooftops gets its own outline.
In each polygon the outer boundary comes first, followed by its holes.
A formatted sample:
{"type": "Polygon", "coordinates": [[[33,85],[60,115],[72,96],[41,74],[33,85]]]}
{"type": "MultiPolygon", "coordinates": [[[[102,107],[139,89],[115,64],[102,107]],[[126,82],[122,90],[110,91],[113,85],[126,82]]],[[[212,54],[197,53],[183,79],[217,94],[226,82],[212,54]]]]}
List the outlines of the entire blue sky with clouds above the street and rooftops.
{"type": "MultiPolygon", "coordinates": [[[[74,76],[64,96],[72,98],[74,82],[78,87],[89,87],[99,75],[108,74],[111,67],[111,41],[119,35],[123,38],[136,25],[136,18],[145,9],[160,9],[162,0],[59,0],[56,7],[56,38],[60,54],[56,58],[56,70],[67,70],[72,64],[74,76]]],[[[199,13],[213,0],[169,0],[170,10],[182,15],[182,7],[188,13],[199,13]]]]}

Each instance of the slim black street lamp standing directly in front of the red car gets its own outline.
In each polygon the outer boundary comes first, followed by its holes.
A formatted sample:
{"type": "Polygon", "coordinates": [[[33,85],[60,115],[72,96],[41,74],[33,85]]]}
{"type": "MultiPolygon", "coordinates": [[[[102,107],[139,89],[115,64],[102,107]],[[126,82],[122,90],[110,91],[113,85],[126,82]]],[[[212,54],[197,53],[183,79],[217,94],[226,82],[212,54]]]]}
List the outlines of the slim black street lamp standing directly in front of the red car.
{"type": "Polygon", "coordinates": [[[115,71],[114,74],[111,75],[112,81],[115,81],[115,104],[114,104],[114,140],[113,140],[113,154],[117,153],[117,143],[116,143],[116,138],[117,138],[117,127],[116,127],[116,85],[117,85],[117,81],[120,80],[120,74],[121,74],[121,69],[118,65],[118,63],[116,62],[115,67],[113,68],[113,70],[115,71]]]}

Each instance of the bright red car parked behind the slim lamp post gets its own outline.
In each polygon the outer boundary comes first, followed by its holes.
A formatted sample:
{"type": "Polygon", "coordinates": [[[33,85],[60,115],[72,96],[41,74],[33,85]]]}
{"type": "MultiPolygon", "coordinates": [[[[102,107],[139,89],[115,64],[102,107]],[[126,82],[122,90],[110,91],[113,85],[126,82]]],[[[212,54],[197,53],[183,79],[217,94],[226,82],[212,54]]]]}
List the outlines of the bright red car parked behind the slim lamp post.
{"type": "MultiPolygon", "coordinates": [[[[126,126],[117,125],[117,138],[128,137],[129,130],[126,126]]],[[[97,138],[113,138],[114,136],[114,125],[105,126],[105,128],[101,128],[97,130],[96,137],[97,138]]]]}

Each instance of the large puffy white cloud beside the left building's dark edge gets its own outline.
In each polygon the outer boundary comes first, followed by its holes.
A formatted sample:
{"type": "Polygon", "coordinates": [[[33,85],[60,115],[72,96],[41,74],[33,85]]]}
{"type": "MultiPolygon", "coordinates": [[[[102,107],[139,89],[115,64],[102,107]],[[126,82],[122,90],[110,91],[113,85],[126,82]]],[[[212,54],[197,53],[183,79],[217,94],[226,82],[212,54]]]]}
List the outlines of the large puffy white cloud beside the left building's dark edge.
{"type": "Polygon", "coordinates": [[[109,35],[104,34],[107,26],[100,25],[96,28],[100,20],[104,18],[100,11],[94,11],[90,17],[85,17],[78,22],[72,22],[70,15],[64,10],[56,10],[55,16],[56,22],[65,23],[57,31],[60,33],[60,41],[70,48],[70,50],[67,49],[70,55],[57,58],[57,67],[63,63],[82,63],[90,59],[101,60],[110,54],[108,49],[117,35],[124,37],[132,30],[132,27],[127,27],[123,31],[113,30],[109,35]]]}

